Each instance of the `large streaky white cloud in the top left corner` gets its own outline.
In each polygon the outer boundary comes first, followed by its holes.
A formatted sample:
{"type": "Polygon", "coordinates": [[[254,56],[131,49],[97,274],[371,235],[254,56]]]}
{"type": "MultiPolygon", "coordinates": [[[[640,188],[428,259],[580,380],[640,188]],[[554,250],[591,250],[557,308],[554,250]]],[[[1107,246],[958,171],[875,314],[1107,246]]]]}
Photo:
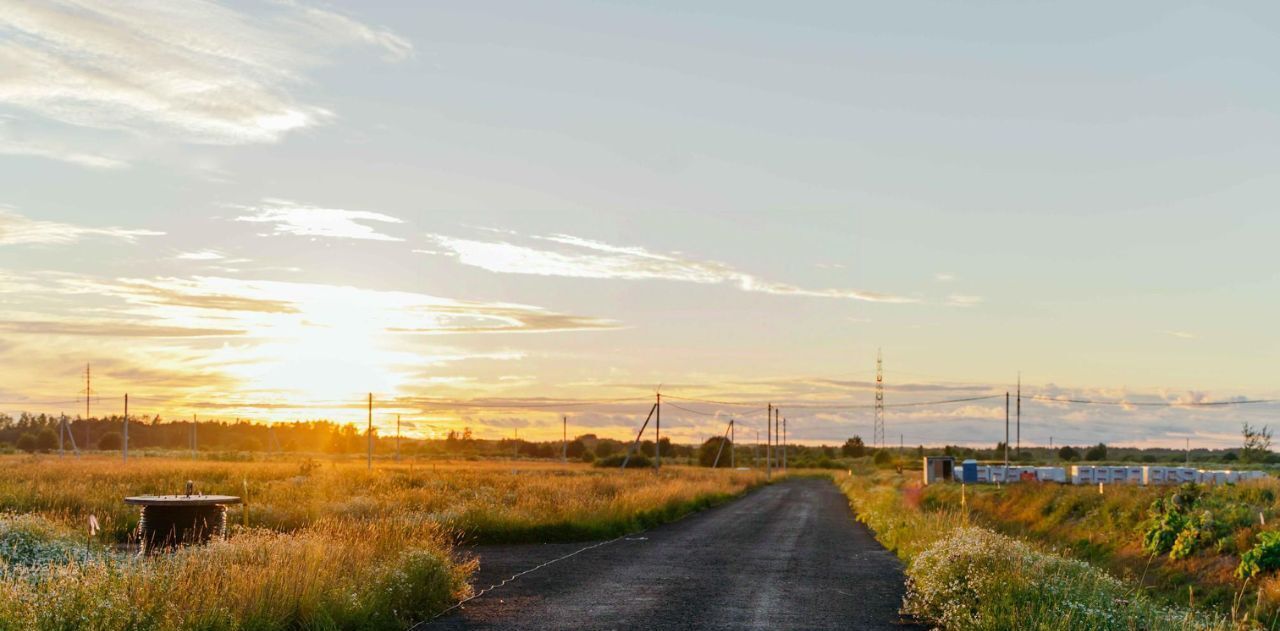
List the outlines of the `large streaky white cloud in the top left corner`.
{"type": "Polygon", "coordinates": [[[412,54],[387,29],[292,1],[255,15],[202,0],[9,3],[0,12],[0,104],[147,137],[275,142],[332,118],[289,88],[349,45],[393,60],[412,54]]]}

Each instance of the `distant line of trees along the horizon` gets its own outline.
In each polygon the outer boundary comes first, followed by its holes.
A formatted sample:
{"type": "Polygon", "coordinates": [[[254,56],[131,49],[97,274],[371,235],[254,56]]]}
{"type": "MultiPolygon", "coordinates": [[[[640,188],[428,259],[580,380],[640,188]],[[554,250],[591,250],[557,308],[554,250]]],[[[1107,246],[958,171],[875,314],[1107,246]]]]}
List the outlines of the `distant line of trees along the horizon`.
{"type": "MultiPolygon", "coordinates": [[[[22,413],[18,417],[0,415],[0,452],[56,452],[59,448],[72,451],[119,451],[123,444],[123,417],[102,419],[67,417],[70,436],[63,434],[59,443],[61,417],[51,415],[22,413]],[[74,445],[72,442],[74,438],[74,445]]],[[[1253,463],[1280,463],[1280,454],[1270,452],[1267,444],[1256,457],[1243,458],[1253,463]]],[[[129,449],[168,449],[189,451],[192,445],[200,453],[314,453],[314,454],[362,454],[367,448],[367,435],[362,427],[333,421],[294,421],[261,424],[248,420],[238,421],[166,421],[156,417],[129,417],[129,449]]],[[[531,442],[522,439],[477,439],[470,429],[449,431],[442,439],[411,439],[399,442],[402,456],[425,457],[515,457],[515,458],[554,458],[567,456],[575,461],[607,459],[621,461],[630,442],[600,438],[595,434],[582,434],[568,442],[531,442]],[[567,453],[566,453],[567,452],[567,453]]],[[[380,456],[393,453],[396,438],[380,435],[374,430],[374,448],[380,456]]],[[[655,456],[653,440],[643,440],[636,449],[641,462],[655,456]]],[[[1240,461],[1240,449],[1170,449],[1170,448],[1129,448],[1096,444],[1087,447],[1023,447],[1010,445],[1011,462],[1140,462],[1178,463],[1213,462],[1233,463],[1240,461]]],[[[662,457],[698,461],[712,465],[719,456],[719,466],[754,466],[764,462],[764,445],[740,442],[730,445],[721,436],[714,436],[700,445],[673,444],[662,439],[662,457]],[[721,449],[721,443],[726,449],[721,449]],[[732,456],[731,456],[732,454],[732,456]]],[[[961,445],[908,447],[873,449],[859,436],[847,439],[842,445],[788,445],[788,463],[796,467],[838,467],[847,466],[850,459],[874,457],[879,463],[911,461],[922,456],[955,456],[1000,462],[1005,458],[1004,443],[995,448],[973,448],[961,445]]]]}

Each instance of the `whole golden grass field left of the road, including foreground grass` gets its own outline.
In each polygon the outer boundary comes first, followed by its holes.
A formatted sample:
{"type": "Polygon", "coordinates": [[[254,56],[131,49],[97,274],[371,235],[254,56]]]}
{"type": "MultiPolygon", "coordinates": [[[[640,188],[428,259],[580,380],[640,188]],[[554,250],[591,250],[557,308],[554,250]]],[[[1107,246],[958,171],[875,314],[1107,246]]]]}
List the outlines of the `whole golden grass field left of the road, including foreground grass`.
{"type": "Polygon", "coordinates": [[[617,535],[762,481],[536,462],[0,457],[0,628],[403,628],[467,594],[474,567],[451,554],[461,541],[617,535]],[[229,538],[122,552],[137,525],[122,499],[187,480],[248,498],[229,538]]]}

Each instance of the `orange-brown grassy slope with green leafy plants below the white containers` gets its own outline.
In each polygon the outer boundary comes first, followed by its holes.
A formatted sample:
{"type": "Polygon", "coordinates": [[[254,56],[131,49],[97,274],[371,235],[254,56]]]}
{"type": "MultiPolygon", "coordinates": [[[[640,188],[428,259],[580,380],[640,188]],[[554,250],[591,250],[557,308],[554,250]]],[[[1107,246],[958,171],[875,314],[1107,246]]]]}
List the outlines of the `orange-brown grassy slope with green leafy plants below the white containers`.
{"type": "MultiPolygon", "coordinates": [[[[1280,577],[1236,575],[1258,535],[1280,523],[1280,480],[1222,486],[1097,488],[1055,484],[969,486],[974,520],[1140,581],[1161,602],[1196,604],[1280,625],[1280,577]],[[1176,504],[1178,511],[1170,509],[1176,504]],[[1271,523],[1271,527],[1266,526],[1271,523]]],[[[924,509],[960,506],[960,488],[933,485],[924,509]]]]}

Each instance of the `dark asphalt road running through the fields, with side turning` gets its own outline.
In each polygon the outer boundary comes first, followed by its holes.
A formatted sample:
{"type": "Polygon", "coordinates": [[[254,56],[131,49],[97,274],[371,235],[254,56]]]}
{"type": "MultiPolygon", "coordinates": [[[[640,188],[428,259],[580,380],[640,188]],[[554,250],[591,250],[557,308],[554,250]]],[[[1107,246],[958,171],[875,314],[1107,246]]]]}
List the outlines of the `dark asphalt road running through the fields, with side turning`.
{"type": "MultiPolygon", "coordinates": [[[[477,547],[477,589],[588,544],[477,547]]],[[[902,567],[827,480],[788,480],[580,552],[422,628],[916,628],[902,567]]]]}

